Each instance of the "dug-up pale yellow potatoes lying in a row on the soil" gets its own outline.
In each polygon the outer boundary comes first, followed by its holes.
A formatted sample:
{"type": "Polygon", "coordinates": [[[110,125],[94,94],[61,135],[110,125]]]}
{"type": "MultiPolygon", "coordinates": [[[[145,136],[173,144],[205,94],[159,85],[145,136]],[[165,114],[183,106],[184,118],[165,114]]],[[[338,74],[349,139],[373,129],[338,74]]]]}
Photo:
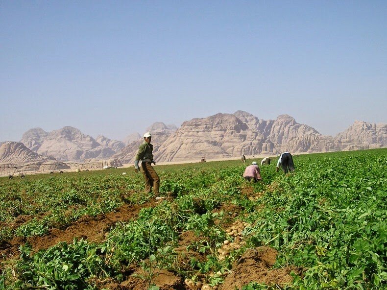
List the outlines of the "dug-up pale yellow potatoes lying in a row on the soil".
{"type": "MultiPolygon", "coordinates": [[[[232,225],[225,230],[225,232],[234,240],[234,242],[230,242],[230,240],[225,240],[221,245],[220,249],[218,249],[218,259],[222,261],[226,256],[230,254],[232,250],[236,250],[242,247],[246,242],[242,241],[242,232],[245,227],[251,226],[247,222],[243,222],[241,220],[236,220],[232,223],[232,225]]],[[[211,277],[221,277],[227,275],[228,272],[221,273],[218,271],[217,273],[210,273],[211,277]]],[[[192,279],[185,279],[184,283],[188,286],[189,289],[193,290],[218,290],[218,286],[211,287],[207,283],[203,283],[201,281],[194,282],[192,279]]]]}

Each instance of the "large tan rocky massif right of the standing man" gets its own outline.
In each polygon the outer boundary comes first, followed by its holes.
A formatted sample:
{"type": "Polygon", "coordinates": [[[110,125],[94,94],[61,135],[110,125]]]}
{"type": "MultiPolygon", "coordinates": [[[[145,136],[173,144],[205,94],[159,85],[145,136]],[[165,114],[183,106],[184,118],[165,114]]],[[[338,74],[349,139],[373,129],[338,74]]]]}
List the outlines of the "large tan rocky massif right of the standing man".
{"type": "MultiPolygon", "coordinates": [[[[250,113],[216,114],[185,121],[162,144],[155,160],[187,161],[271,154],[290,151],[330,152],[387,145],[385,124],[355,122],[337,137],[324,136],[314,128],[297,123],[289,115],[260,120],[250,113]]],[[[156,141],[154,142],[156,143],[156,141]]]]}

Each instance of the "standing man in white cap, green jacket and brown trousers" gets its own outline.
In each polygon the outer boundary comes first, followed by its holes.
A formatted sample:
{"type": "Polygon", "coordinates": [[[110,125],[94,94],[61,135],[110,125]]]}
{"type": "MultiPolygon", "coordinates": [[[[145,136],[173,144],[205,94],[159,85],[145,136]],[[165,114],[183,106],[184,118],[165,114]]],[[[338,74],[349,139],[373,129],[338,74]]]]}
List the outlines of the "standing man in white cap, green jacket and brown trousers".
{"type": "Polygon", "coordinates": [[[149,132],[146,132],[144,134],[144,143],[139,146],[136,160],[134,161],[134,168],[136,172],[139,171],[139,161],[141,160],[141,171],[145,178],[145,193],[150,193],[153,187],[153,193],[159,194],[160,178],[152,167],[152,163],[156,165],[156,162],[153,161],[153,145],[150,144],[151,140],[152,136],[149,132]]]}

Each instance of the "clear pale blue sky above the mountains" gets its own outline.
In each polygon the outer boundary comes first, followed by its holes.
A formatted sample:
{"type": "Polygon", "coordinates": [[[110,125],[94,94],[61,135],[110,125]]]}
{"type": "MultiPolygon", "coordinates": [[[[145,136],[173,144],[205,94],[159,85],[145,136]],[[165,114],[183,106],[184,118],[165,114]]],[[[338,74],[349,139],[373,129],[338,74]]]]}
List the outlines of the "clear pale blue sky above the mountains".
{"type": "Polygon", "coordinates": [[[237,110],[332,136],[386,123],[386,19],[378,0],[0,0],[0,141],[237,110]]]}

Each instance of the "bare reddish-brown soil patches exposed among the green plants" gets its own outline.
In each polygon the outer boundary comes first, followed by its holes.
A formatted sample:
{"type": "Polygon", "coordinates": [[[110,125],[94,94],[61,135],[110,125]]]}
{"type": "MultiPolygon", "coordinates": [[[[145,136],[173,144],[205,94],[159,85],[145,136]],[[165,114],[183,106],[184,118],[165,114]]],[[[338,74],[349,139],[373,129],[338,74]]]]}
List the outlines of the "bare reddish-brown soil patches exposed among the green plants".
{"type": "MultiPolygon", "coordinates": [[[[246,192],[250,196],[254,196],[253,190],[246,188],[246,192]]],[[[11,258],[19,254],[18,247],[25,242],[32,245],[33,251],[47,249],[58,242],[72,242],[73,239],[87,239],[89,242],[101,242],[104,240],[106,233],[118,221],[129,221],[137,218],[139,211],[143,207],[155,206],[157,200],[152,200],[144,205],[129,205],[124,204],[113,212],[99,215],[97,217],[84,216],[74,222],[68,228],[61,230],[57,228],[51,229],[50,233],[43,237],[17,237],[12,241],[0,241],[0,260],[11,258]]],[[[220,221],[220,226],[226,229],[233,223],[241,209],[232,204],[223,204],[217,211],[223,211],[224,216],[220,221]]],[[[15,226],[28,221],[30,216],[21,216],[15,220],[15,226]]],[[[237,235],[237,234],[236,234],[237,235]]],[[[177,263],[181,270],[190,269],[191,259],[195,258],[198,261],[206,260],[206,253],[199,253],[195,247],[189,247],[195,243],[204,240],[205,237],[197,237],[194,231],[182,232],[179,238],[179,245],[174,249],[177,253],[177,263]]],[[[235,241],[240,238],[234,237],[235,241]]],[[[231,245],[231,244],[230,244],[231,245]]],[[[243,256],[234,263],[231,273],[225,276],[223,285],[220,285],[218,290],[232,290],[235,287],[241,288],[249,282],[256,281],[266,284],[278,284],[283,286],[286,283],[291,283],[292,277],[291,268],[272,269],[275,263],[277,252],[269,247],[263,246],[247,250],[243,256]]],[[[156,270],[157,275],[152,276],[152,282],[155,283],[160,290],[199,290],[201,287],[189,288],[183,281],[184,277],[178,276],[175,273],[161,269],[156,270]]],[[[199,277],[199,275],[198,275],[199,277]]],[[[97,283],[100,289],[110,290],[146,290],[149,287],[149,274],[145,273],[141,267],[133,268],[130,272],[125,273],[126,280],[119,283],[111,279],[99,281],[97,283]],[[131,274],[136,274],[132,276],[131,274]]],[[[199,281],[205,283],[205,278],[199,278],[199,281]]]]}

